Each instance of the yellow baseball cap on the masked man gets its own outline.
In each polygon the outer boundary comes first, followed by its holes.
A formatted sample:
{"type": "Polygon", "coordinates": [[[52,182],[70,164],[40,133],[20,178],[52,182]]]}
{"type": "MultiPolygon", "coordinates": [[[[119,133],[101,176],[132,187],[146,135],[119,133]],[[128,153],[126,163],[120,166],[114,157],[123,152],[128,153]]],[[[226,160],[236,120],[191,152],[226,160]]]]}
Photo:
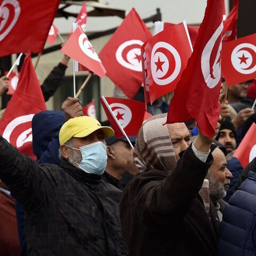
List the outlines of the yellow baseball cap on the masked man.
{"type": "Polygon", "coordinates": [[[69,119],[61,126],[59,133],[60,145],[64,145],[71,138],[83,138],[89,134],[102,130],[105,137],[114,135],[114,130],[108,126],[101,126],[100,122],[90,116],[78,116],[69,119]]]}

